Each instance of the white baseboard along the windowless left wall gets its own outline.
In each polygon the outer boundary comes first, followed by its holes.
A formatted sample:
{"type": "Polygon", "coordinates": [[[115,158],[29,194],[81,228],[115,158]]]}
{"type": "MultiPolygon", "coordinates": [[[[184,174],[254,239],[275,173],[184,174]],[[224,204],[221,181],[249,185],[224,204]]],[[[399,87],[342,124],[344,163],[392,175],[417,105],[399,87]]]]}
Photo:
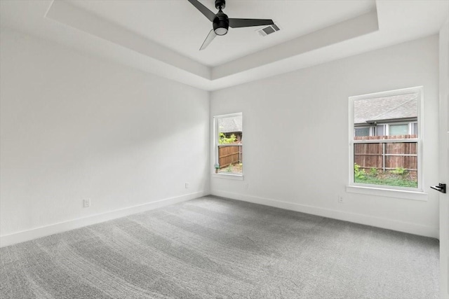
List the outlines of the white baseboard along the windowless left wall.
{"type": "Polygon", "coordinates": [[[9,235],[0,236],[0,248],[29,241],[32,239],[38,239],[40,237],[46,237],[48,235],[53,235],[58,232],[66,232],[67,230],[74,230],[75,228],[82,228],[83,226],[105,222],[116,218],[121,218],[131,214],[140,213],[142,211],[166,207],[170,204],[176,204],[177,202],[185,202],[187,200],[193,200],[196,197],[206,196],[208,194],[209,192],[199,191],[196,193],[189,193],[187,195],[157,200],[155,202],[148,202],[147,204],[140,204],[137,206],[127,207],[124,209],[107,211],[102,214],[96,214],[83,218],[73,219],[70,221],[41,226],[40,228],[32,228],[31,230],[22,230],[21,232],[14,232],[9,235]]]}

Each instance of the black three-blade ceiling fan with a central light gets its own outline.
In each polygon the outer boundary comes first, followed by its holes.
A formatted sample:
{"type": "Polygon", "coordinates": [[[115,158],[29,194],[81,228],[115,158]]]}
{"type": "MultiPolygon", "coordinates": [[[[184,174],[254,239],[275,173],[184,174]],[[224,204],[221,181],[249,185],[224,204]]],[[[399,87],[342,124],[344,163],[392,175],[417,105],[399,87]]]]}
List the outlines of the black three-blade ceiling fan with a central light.
{"type": "Polygon", "coordinates": [[[215,0],[215,8],[217,8],[218,13],[215,14],[210,11],[206,6],[203,6],[198,0],[188,0],[193,6],[196,7],[203,15],[206,16],[212,22],[213,29],[210,30],[208,36],[204,40],[201,48],[199,50],[204,50],[217,35],[227,34],[227,29],[229,27],[239,28],[239,27],[253,27],[253,26],[263,26],[263,25],[274,25],[273,20],[262,20],[262,19],[236,19],[227,18],[227,15],[223,13],[222,9],[225,9],[225,0],[215,0]]]}

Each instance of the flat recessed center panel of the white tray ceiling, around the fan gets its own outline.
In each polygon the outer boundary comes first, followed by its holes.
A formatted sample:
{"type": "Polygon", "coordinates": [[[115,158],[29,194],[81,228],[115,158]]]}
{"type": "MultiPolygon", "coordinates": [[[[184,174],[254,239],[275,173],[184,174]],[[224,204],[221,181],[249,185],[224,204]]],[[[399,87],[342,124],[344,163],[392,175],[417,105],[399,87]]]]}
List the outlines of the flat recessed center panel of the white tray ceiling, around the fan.
{"type": "MultiPolygon", "coordinates": [[[[216,67],[375,8],[374,0],[228,0],[224,12],[229,18],[272,19],[279,23],[282,31],[262,37],[255,30],[263,27],[230,28],[227,35],[215,39],[210,47],[200,52],[199,47],[212,29],[212,23],[187,0],[71,0],[70,3],[208,67],[216,67]],[[310,11],[319,13],[311,14],[310,11]]],[[[215,0],[201,3],[217,12],[215,0]]]]}

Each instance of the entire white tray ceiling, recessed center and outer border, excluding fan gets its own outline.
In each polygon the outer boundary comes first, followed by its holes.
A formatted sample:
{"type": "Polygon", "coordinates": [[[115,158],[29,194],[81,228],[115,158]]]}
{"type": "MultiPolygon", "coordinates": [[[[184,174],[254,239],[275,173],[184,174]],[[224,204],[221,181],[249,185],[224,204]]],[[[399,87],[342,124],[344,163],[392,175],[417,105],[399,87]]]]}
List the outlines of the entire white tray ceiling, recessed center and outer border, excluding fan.
{"type": "MultiPolygon", "coordinates": [[[[215,12],[214,0],[203,0],[215,12]]],[[[436,34],[449,0],[228,0],[229,18],[272,18],[281,31],[212,25],[187,0],[1,0],[0,25],[204,90],[266,78],[436,34]]]]}

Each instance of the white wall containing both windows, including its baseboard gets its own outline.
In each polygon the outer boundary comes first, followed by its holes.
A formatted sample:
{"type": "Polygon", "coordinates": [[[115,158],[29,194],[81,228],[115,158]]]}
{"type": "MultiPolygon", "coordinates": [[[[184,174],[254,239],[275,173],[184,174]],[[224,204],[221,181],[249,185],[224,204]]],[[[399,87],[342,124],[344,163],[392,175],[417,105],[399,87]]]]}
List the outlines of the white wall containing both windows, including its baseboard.
{"type": "Polygon", "coordinates": [[[424,86],[424,183],[438,181],[438,37],[212,92],[212,115],[243,112],[244,181],[211,193],[438,237],[438,198],[346,193],[348,97],[424,86]],[[248,189],[245,184],[248,183],[248,189]],[[337,202],[337,195],[344,203],[337,202]]]}

